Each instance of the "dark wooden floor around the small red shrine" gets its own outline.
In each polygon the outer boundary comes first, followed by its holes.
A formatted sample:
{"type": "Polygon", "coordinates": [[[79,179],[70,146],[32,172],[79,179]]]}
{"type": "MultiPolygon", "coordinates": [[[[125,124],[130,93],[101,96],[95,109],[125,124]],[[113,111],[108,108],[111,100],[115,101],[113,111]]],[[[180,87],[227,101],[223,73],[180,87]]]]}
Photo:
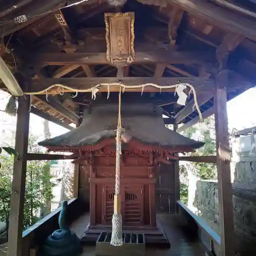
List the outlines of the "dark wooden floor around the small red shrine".
{"type": "MultiPolygon", "coordinates": [[[[169,239],[170,249],[147,249],[145,253],[146,256],[205,256],[205,252],[197,239],[189,237],[186,231],[180,228],[179,224],[181,223],[181,220],[179,216],[161,214],[158,216],[158,220],[162,224],[166,236],[169,239]]],[[[72,223],[71,229],[76,232],[79,238],[81,238],[88,223],[89,216],[81,216],[78,220],[72,223]]],[[[83,253],[81,256],[94,255],[94,246],[86,246],[83,248],[83,253]]]]}

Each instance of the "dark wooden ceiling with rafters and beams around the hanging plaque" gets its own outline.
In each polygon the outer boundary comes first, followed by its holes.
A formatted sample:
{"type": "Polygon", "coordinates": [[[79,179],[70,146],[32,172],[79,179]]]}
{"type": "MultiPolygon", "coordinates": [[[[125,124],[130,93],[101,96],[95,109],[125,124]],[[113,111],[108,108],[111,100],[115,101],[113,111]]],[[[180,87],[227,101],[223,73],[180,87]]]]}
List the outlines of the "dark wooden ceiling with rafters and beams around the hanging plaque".
{"type": "MultiPolygon", "coordinates": [[[[106,59],[104,12],[132,11],[135,61],[124,69],[121,81],[162,86],[189,82],[196,88],[200,109],[207,117],[214,113],[216,74],[228,73],[227,98],[231,99],[254,86],[256,67],[256,18],[213,1],[127,0],[117,8],[108,1],[88,0],[61,10],[78,0],[0,1],[0,54],[25,92],[54,83],[87,89],[102,82],[118,82],[117,69],[106,59]],[[14,22],[24,14],[27,22],[14,22]],[[65,18],[65,25],[60,25],[59,15],[65,18]]],[[[112,89],[110,101],[117,100],[117,91],[112,89]]],[[[70,123],[79,123],[84,108],[90,110],[92,104],[105,101],[107,92],[100,90],[96,100],[91,93],[74,98],[70,92],[62,95],[53,90],[51,94],[57,95],[33,96],[32,112],[70,127],[70,123]]],[[[186,127],[198,118],[193,96],[186,106],[180,106],[173,89],[160,92],[146,87],[141,95],[141,89],[133,88],[122,97],[156,103],[169,116],[166,123],[175,121],[186,127]]]]}

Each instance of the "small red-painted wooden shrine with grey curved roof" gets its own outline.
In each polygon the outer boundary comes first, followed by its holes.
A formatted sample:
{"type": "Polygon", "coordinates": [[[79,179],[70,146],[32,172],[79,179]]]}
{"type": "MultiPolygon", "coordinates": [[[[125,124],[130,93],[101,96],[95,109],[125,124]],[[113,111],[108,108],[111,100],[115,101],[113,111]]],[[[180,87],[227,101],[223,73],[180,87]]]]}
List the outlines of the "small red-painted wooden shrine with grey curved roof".
{"type": "MultiPolygon", "coordinates": [[[[159,234],[155,186],[160,165],[171,164],[174,153],[194,151],[203,143],[167,129],[162,110],[152,104],[123,103],[121,116],[125,129],[121,155],[123,230],[159,234]]],[[[84,112],[81,125],[73,131],[39,143],[52,151],[73,152],[76,155],[75,162],[79,162],[80,166],[79,197],[84,201],[90,200],[90,227],[87,233],[111,228],[117,117],[117,104],[98,105],[92,107],[90,113],[84,112]]],[[[174,169],[170,168],[169,172],[174,172],[174,169]]],[[[174,208],[175,203],[169,207],[174,208]]]]}

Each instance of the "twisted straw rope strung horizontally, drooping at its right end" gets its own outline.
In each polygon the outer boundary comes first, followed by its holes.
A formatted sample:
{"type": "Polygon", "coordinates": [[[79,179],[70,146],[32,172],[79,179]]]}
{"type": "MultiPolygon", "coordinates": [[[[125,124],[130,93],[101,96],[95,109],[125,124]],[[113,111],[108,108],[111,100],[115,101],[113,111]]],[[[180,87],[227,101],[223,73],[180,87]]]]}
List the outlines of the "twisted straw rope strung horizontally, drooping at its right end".
{"type": "Polygon", "coordinates": [[[75,89],[75,88],[72,88],[72,87],[69,87],[69,86],[64,86],[63,84],[52,84],[52,86],[49,86],[48,88],[46,88],[44,90],[41,90],[41,91],[38,91],[38,92],[26,92],[24,94],[25,95],[27,95],[27,94],[29,94],[29,95],[38,95],[38,94],[42,94],[42,93],[47,93],[50,89],[55,88],[55,87],[58,88],[57,90],[60,93],[62,93],[61,89],[67,89],[67,90],[70,90],[70,91],[76,92],[76,93],[79,93],[79,92],[80,93],[86,93],[86,92],[93,92],[95,89],[100,89],[100,88],[105,86],[105,87],[108,87],[108,96],[109,96],[111,86],[119,86],[120,89],[121,88],[123,89],[123,92],[124,92],[125,89],[142,88],[142,93],[143,93],[143,90],[146,86],[152,86],[152,87],[158,88],[161,92],[162,89],[177,88],[181,84],[184,85],[184,86],[189,87],[190,90],[193,92],[194,101],[195,101],[195,108],[198,111],[200,121],[202,121],[203,117],[202,117],[202,113],[199,109],[196,90],[189,83],[178,83],[178,84],[173,84],[173,85],[168,85],[168,86],[159,86],[158,84],[155,84],[155,83],[144,83],[144,84],[138,84],[137,86],[126,86],[125,84],[123,84],[121,82],[114,82],[114,83],[99,83],[99,84],[96,84],[96,86],[91,87],[89,89],[75,89]]]}

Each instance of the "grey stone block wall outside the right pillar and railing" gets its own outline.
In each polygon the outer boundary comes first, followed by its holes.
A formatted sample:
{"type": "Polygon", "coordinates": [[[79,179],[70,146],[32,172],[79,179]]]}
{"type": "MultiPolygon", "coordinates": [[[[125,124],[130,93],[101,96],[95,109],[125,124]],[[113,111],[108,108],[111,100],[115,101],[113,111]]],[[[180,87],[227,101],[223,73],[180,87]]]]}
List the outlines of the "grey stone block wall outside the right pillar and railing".
{"type": "MultiPolygon", "coordinates": [[[[233,141],[231,181],[233,182],[233,215],[238,249],[253,255],[256,250],[255,134],[236,138],[233,141]]],[[[220,234],[216,181],[197,181],[194,207],[197,209],[197,214],[220,234]]]]}

